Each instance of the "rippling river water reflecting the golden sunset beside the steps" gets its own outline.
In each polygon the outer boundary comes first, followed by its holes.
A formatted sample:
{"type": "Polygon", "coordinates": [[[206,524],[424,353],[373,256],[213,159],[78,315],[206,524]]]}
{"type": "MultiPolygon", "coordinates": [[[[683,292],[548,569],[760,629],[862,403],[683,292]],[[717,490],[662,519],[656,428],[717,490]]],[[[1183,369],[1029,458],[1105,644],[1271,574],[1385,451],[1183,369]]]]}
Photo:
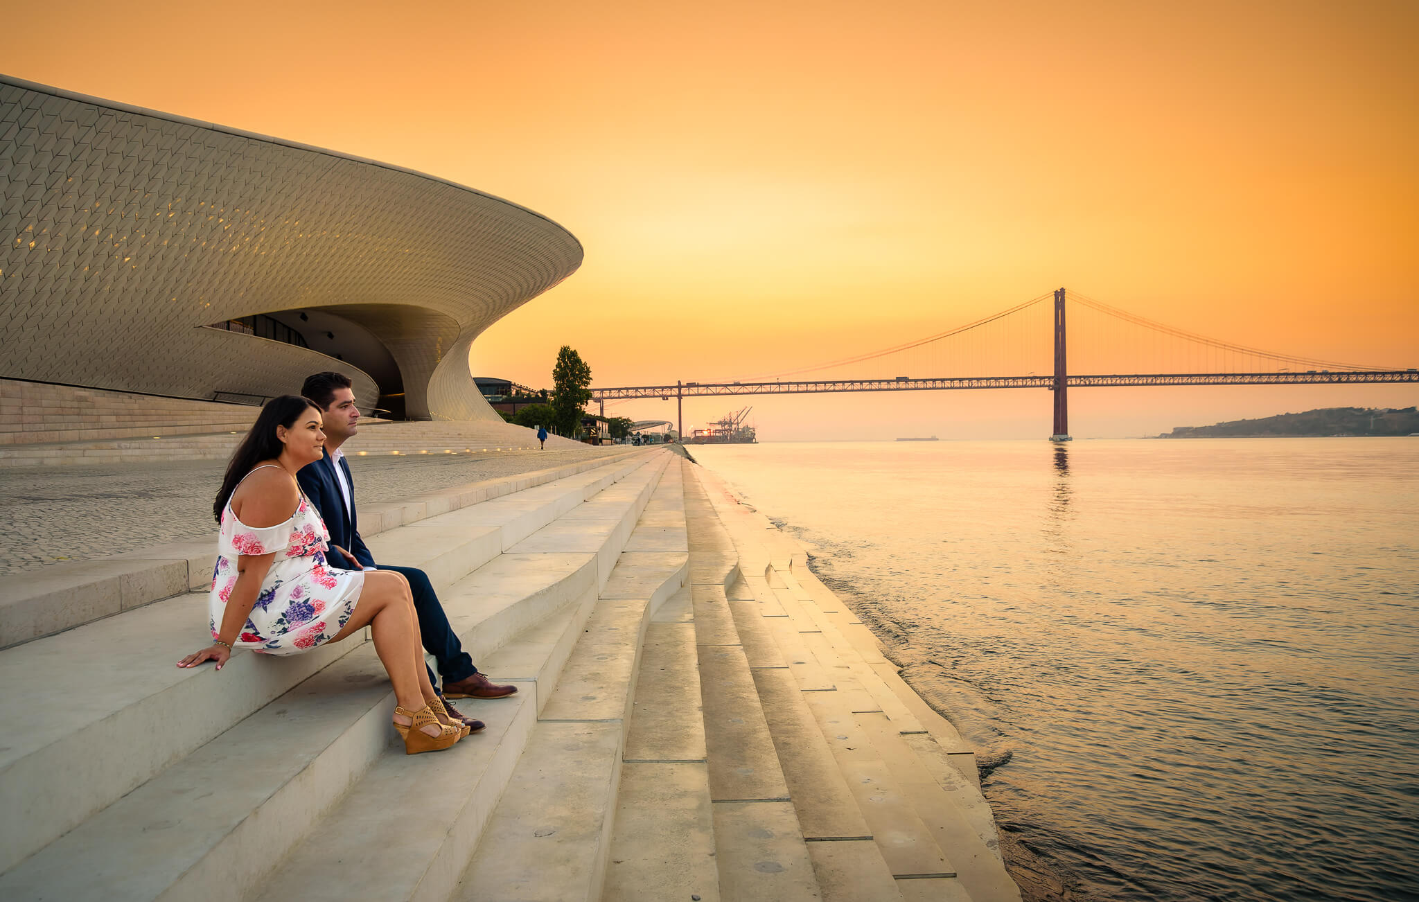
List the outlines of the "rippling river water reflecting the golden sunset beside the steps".
{"type": "Polygon", "coordinates": [[[691,451],[975,743],[1026,899],[1419,899],[1419,440],[691,451]]]}

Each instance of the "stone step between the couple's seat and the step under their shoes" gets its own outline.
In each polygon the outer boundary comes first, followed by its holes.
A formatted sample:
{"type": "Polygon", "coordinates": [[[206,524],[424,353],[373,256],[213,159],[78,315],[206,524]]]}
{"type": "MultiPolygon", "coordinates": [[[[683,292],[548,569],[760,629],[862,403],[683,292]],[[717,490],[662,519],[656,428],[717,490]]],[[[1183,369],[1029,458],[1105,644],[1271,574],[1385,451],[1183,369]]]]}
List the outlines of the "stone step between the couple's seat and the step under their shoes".
{"type": "MultiPolygon", "coordinates": [[[[528,560],[507,562],[521,564],[524,604],[575,607],[578,598],[595,597],[596,564],[590,555],[543,557],[543,567],[528,560]]],[[[487,566],[504,563],[499,559],[487,566]]],[[[505,587],[507,579],[504,570],[492,581],[505,587]]],[[[475,583],[477,574],[460,589],[478,594],[475,583]]],[[[228,669],[211,675],[226,678],[228,669]]],[[[504,709],[526,705],[524,716],[531,719],[534,703],[532,698],[509,701],[504,709]]],[[[477,706],[480,718],[487,706],[491,702],[477,706]]],[[[55,884],[64,888],[55,898],[68,899],[210,892],[210,886],[199,889],[203,882],[186,882],[186,875],[193,874],[211,876],[211,885],[233,886],[228,898],[243,898],[265,875],[261,865],[277,864],[385,755],[393,736],[392,711],[393,695],[373,645],[355,641],[346,655],[311,679],[0,875],[0,895],[14,891],[16,898],[28,898],[26,892],[55,884]],[[312,723],[324,725],[324,732],[315,732],[312,723]],[[200,804],[183,804],[199,797],[200,804]],[[173,842],[172,833],[183,837],[182,844],[173,842]],[[261,854],[253,857],[253,850],[261,854]],[[135,868],[128,862],[133,859],[148,862],[142,876],[132,874],[135,868]]],[[[184,723],[180,715],[167,722],[184,723]]],[[[447,755],[454,753],[461,749],[447,755]]],[[[389,755],[406,757],[400,749],[389,755]]]]}

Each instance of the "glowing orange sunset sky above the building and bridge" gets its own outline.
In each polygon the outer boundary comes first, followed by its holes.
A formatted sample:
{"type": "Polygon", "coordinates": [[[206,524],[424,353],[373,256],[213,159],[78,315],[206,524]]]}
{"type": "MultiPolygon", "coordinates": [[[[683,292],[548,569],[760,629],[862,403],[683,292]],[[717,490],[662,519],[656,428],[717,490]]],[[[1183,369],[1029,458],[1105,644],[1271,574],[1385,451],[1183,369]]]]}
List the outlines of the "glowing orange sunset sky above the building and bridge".
{"type": "MultiPolygon", "coordinates": [[[[1412,0],[193,6],[24,4],[0,71],[562,223],[585,265],[474,346],[478,374],[546,384],[569,343],[603,386],[738,379],[1059,285],[1242,345],[1419,366],[1412,0]]],[[[1416,401],[1070,399],[1077,437],[1416,401]]],[[[1050,427],[1046,391],[707,399],[685,425],[742,403],[765,438],[1050,427]]]]}

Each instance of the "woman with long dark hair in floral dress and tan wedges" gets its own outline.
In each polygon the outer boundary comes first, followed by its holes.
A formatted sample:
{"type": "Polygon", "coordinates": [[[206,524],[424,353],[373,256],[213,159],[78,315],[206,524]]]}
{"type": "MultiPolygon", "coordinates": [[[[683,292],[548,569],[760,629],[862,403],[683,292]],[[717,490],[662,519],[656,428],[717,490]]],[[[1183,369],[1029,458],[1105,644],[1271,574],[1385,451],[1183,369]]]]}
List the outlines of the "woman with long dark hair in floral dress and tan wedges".
{"type": "Polygon", "coordinates": [[[429,682],[409,581],[389,570],[325,566],[329,533],[295,481],[324,445],[321,410],[308,399],[287,394],[261,408],[213,505],[221,525],[209,597],[216,641],[177,667],[216,661],[220,671],[233,648],[299,654],[369,625],[394,684],[404,752],[447,749],[468,728],[448,718],[429,682]]]}

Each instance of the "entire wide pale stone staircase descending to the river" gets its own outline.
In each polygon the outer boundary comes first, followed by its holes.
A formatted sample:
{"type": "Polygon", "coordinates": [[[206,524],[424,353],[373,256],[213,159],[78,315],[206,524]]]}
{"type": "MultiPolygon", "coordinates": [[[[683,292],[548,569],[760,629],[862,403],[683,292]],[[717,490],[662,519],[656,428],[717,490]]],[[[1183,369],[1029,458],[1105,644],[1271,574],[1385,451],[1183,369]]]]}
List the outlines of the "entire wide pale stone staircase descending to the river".
{"type": "Polygon", "coordinates": [[[359,638],[176,668],[204,590],[67,623],[0,651],[0,899],[1019,898],[969,750],[698,467],[637,450],[385,516],[376,560],[519,685],[460,702],[484,732],[403,755],[359,638]]]}

